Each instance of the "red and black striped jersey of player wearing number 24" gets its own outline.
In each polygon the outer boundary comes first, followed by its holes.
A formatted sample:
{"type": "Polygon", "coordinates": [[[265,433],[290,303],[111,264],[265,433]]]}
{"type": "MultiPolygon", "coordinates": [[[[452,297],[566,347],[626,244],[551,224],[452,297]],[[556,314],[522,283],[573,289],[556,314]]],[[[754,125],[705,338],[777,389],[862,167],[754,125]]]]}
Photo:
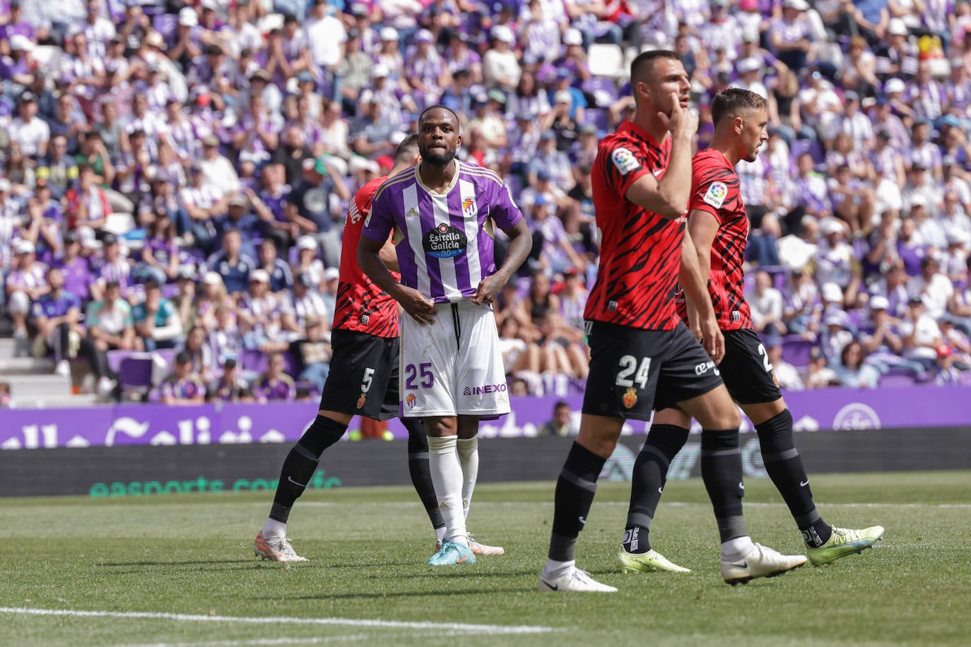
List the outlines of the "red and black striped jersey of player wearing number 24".
{"type": "Polygon", "coordinates": [[[681,322],[674,296],[685,218],[668,220],[624,197],[645,174],[663,178],[670,157],[670,137],[658,144],[630,121],[600,142],[591,172],[600,267],[586,319],[643,330],[673,330],[681,322]]]}

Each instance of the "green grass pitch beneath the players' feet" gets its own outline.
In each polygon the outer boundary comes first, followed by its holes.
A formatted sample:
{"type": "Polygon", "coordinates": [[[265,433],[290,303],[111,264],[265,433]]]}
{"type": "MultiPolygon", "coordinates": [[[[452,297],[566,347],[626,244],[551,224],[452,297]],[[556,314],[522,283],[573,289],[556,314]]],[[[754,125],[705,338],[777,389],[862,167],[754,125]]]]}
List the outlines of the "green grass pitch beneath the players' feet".
{"type": "MultiPolygon", "coordinates": [[[[601,483],[580,566],[613,595],[536,592],[552,483],[482,485],[470,526],[502,557],[432,569],[433,537],[409,488],[310,492],[289,531],[310,562],[252,556],[272,496],[0,500],[0,607],[164,612],[234,619],[355,619],[551,628],[498,629],[203,622],[0,612],[0,645],[805,645],[968,644],[971,471],[820,475],[823,517],[887,527],[884,541],[832,566],[728,587],[700,481],[674,481],[653,546],[686,574],[621,575],[613,556],[628,486],[601,483]]],[[[747,483],[755,540],[801,550],[767,480],[747,483]]]]}

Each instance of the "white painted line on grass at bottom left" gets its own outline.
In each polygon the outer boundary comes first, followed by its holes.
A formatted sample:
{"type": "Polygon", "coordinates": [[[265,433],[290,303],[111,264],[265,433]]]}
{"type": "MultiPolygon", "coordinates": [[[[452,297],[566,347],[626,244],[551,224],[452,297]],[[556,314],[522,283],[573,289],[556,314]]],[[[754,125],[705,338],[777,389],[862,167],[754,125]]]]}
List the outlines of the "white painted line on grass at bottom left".
{"type": "Polygon", "coordinates": [[[184,613],[153,613],[148,611],[83,611],[80,609],[32,609],[0,606],[0,613],[37,616],[72,616],[76,618],[124,618],[142,620],[175,620],[178,622],[249,623],[252,625],[331,625],[382,629],[468,631],[488,633],[546,633],[552,627],[530,625],[467,625],[463,623],[401,622],[396,620],[354,620],[352,618],[286,618],[233,617],[189,615],[184,613]]]}

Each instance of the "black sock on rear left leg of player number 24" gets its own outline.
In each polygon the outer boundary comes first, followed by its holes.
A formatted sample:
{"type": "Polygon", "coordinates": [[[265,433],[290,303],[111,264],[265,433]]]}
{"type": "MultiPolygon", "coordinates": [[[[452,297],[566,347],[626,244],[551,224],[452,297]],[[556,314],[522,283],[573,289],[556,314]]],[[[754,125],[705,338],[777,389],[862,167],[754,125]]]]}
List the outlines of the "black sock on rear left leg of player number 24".
{"type": "Polygon", "coordinates": [[[556,479],[549,553],[551,560],[573,560],[577,537],[584,530],[586,515],[597,491],[597,478],[606,462],[606,459],[600,458],[576,441],[570,447],[566,463],[556,479]]]}

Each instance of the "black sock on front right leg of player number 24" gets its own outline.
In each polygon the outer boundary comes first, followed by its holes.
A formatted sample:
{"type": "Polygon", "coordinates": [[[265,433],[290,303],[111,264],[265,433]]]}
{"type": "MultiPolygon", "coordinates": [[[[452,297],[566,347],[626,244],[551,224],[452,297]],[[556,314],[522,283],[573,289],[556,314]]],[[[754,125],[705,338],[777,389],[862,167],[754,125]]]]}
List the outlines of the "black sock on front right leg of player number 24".
{"type": "Polygon", "coordinates": [[[701,432],[701,478],[715,509],[721,542],[749,534],[742,517],[742,453],[737,429],[701,432]]]}

